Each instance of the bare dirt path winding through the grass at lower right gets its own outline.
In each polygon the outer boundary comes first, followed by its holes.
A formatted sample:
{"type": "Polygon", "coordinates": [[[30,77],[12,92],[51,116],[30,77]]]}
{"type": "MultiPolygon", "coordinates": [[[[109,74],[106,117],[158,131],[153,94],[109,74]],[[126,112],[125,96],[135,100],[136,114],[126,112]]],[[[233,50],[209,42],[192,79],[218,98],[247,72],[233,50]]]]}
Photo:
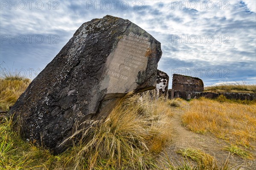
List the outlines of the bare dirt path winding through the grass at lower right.
{"type": "MultiPolygon", "coordinates": [[[[172,118],[174,134],[172,142],[170,142],[169,146],[164,150],[169,156],[169,159],[174,163],[176,162],[176,165],[180,164],[180,162],[183,162],[183,157],[180,154],[177,154],[176,151],[178,149],[192,148],[203,150],[205,153],[215,157],[217,164],[223,164],[229,155],[229,152],[223,149],[224,146],[227,146],[226,142],[214,136],[200,135],[188,130],[181,122],[181,116],[183,114],[184,111],[181,108],[174,109],[172,118]]],[[[240,170],[256,170],[256,160],[245,160],[237,155],[230,154],[229,162],[232,167],[241,166],[240,170]]]]}

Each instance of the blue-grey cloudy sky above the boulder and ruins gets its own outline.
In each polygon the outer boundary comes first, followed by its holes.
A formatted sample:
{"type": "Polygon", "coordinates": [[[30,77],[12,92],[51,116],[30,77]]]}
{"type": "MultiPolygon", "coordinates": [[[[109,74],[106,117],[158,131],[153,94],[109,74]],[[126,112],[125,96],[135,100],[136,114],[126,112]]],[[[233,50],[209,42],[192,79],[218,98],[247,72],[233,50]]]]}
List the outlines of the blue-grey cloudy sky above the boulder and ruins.
{"type": "Polygon", "coordinates": [[[108,14],[130,20],[161,42],[158,68],[170,77],[199,77],[205,85],[256,84],[255,0],[0,0],[0,5],[2,75],[19,72],[33,79],[82,23],[108,14]]]}

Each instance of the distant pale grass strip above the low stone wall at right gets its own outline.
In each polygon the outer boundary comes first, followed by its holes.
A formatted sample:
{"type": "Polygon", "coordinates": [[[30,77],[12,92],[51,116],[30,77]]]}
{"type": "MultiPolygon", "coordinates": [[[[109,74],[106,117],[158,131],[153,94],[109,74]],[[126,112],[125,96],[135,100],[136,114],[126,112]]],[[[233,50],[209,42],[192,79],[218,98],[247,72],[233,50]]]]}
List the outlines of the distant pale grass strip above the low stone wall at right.
{"type": "Polygon", "coordinates": [[[205,87],[204,91],[256,93],[256,85],[248,85],[245,82],[223,83],[221,85],[212,85],[212,86],[205,87]]]}

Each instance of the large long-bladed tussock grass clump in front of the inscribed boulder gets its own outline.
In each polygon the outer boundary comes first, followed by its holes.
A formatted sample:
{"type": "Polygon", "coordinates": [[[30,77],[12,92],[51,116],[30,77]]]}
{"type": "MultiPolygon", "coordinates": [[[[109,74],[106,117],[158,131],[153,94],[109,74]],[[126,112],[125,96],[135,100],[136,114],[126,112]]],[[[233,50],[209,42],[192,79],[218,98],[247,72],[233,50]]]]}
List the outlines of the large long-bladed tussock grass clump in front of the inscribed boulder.
{"type": "Polygon", "coordinates": [[[163,101],[147,94],[123,99],[107,119],[77,132],[83,135],[71,150],[74,169],[154,168],[154,153],[171,137],[170,114],[163,101]]]}

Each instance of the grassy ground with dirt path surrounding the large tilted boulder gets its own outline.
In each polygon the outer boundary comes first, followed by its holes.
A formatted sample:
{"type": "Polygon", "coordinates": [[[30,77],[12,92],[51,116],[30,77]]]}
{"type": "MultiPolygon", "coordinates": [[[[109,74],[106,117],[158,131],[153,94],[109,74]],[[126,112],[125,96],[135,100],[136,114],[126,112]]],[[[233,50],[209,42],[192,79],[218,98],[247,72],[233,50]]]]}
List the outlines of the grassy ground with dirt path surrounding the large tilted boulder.
{"type": "MultiPolygon", "coordinates": [[[[7,111],[28,85],[29,79],[0,79],[0,109],[7,111]]],[[[106,120],[93,122],[100,125],[84,129],[82,139],[57,156],[23,141],[12,130],[12,117],[0,117],[0,170],[239,169],[244,163],[233,162],[255,159],[255,106],[129,93],[106,120]],[[175,141],[197,140],[197,135],[202,141],[211,136],[214,142],[201,147],[175,141]],[[223,147],[214,149],[220,140],[223,147]]]]}

